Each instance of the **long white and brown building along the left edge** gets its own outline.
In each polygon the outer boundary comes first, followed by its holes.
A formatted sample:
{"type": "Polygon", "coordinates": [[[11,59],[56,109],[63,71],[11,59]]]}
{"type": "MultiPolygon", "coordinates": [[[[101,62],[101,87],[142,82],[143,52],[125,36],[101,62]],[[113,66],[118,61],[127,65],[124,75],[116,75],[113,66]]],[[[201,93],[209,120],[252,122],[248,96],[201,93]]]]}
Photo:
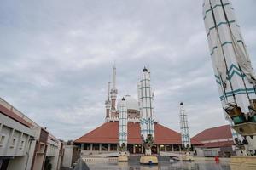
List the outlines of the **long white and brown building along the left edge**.
{"type": "Polygon", "coordinates": [[[0,170],[59,170],[62,142],[0,98],[0,170]]]}

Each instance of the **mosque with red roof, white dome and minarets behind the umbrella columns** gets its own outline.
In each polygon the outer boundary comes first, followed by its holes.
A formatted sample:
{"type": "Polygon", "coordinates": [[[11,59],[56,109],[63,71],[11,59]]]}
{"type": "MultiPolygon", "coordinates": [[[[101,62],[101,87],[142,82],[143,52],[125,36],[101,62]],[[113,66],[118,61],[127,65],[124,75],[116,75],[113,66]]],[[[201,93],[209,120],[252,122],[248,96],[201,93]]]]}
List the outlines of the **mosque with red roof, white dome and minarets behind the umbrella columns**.
{"type": "MultiPolygon", "coordinates": [[[[147,68],[143,69],[148,71],[147,68]]],[[[150,71],[148,71],[150,75],[150,71]]],[[[74,144],[79,145],[82,155],[93,155],[102,153],[111,153],[119,150],[119,102],[117,102],[118,89],[116,88],[116,67],[113,66],[113,82],[108,82],[108,97],[105,101],[106,116],[105,122],[96,129],[84,134],[79,139],[74,141],[74,144]],[[110,89],[111,88],[111,89],[110,89]]],[[[151,92],[152,88],[149,87],[151,92]]],[[[140,92],[138,83],[138,101],[125,95],[127,107],[127,150],[130,154],[143,154],[143,139],[141,136],[140,116],[142,104],[140,102],[140,92]]],[[[152,92],[153,94],[153,92],[152,92]]],[[[153,96],[154,98],[154,96],[153,96]]],[[[154,101],[154,99],[153,99],[154,101]]],[[[152,106],[153,107],[153,106],[152,106]]],[[[177,113],[178,114],[178,113],[177,113]]],[[[171,117],[168,117],[171,118],[171,117]]],[[[153,120],[154,117],[153,117],[153,120]]],[[[178,122],[177,122],[178,123],[178,122]]],[[[200,141],[191,138],[191,148],[201,145],[200,141]]],[[[153,154],[160,152],[180,152],[183,150],[181,134],[174,130],[161,125],[154,121],[154,146],[152,147],[153,154]]]]}

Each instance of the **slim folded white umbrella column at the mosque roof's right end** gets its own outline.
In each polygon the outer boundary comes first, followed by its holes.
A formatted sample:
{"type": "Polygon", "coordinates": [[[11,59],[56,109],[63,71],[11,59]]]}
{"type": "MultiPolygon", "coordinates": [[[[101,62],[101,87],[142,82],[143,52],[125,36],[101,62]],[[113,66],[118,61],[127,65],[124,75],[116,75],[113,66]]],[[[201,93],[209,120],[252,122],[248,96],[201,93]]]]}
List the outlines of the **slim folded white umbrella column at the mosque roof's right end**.
{"type": "Polygon", "coordinates": [[[183,108],[183,102],[180,103],[179,120],[183,147],[189,149],[191,146],[191,142],[189,137],[188,117],[183,108]]]}

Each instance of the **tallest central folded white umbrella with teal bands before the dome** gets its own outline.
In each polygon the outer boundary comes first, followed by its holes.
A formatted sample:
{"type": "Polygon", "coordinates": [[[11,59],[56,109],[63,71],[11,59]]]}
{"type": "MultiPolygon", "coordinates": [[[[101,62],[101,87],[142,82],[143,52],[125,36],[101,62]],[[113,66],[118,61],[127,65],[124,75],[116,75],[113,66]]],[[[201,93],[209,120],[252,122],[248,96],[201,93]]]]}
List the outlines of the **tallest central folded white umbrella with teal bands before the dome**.
{"type": "Polygon", "coordinates": [[[143,69],[142,80],[138,83],[138,97],[141,109],[141,134],[143,140],[148,138],[151,134],[154,140],[154,107],[153,107],[153,93],[150,87],[150,73],[148,69],[143,69]]]}

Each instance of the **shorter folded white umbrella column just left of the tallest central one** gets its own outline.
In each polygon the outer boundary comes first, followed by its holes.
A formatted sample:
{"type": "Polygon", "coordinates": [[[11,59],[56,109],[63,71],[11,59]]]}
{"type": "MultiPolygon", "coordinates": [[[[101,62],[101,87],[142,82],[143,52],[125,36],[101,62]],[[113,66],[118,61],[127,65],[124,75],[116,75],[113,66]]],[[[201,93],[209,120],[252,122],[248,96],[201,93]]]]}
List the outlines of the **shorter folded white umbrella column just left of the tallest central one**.
{"type": "Polygon", "coordinates": [[[121,151],[127,148],[127,105],[123,98],[119,105],[119,147],[121,151]]]}

